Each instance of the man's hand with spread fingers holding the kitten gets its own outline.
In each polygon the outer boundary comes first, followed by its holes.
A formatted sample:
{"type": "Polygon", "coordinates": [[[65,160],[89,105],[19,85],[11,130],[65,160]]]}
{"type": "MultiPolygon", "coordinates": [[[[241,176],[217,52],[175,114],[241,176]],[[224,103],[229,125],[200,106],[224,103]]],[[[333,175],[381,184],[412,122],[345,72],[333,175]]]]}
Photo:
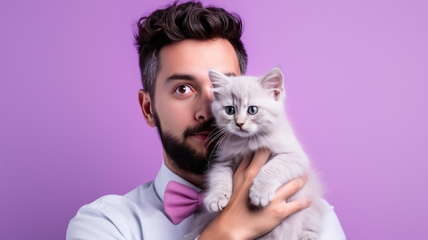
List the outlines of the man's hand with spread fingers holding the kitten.
{"type": "Polygon", "coordinates": [[[253,178],[269,158],[269,150],[258,150],[254,157],[245,159],[233,176],[233,191],[226,208],[202,232],[200,240],[255,239],[278,226],[289,215],[310,206],[310,199],[286,202],[306,183],[306,176],[296,178],[280,187],[267,206],[254,209],[248,194],[253,178]]]}

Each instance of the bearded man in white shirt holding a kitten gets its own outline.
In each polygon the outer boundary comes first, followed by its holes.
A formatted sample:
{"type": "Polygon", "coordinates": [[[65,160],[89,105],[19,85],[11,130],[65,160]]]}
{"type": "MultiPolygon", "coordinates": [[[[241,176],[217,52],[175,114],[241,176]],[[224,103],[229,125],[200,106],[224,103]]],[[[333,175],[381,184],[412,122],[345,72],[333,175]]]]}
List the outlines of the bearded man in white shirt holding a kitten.
{"type": "MultiPolygon", "coordinates": [[[[139,90],[139,104],[147,124],[159,131],[164,164],[155,181],[79,209],[67,239],[183,239],[191,230],[198,211],[173,215],[168,201],[176,198],[168,195],[169,186],[185,185],[195,192],[203,187],[209,166],[206,155],[212,150],[204,142],[213,127],[208,69],[226,75],[245,73],[247,53],[241,34],[239,16],[201,3],[174,3],[140,19],[135,39],[144,90],[139,90]]],[[[259,150],[239,165],[228,206],[200,240],[255,239],[310,205],[310,199],[286,202],[304,185],[303,176],[278,189],[265,208],[248,206],[252,179],[268,157],[268,150],[259,150]]],[[[332,206],[326,206],[321,240],[345,239],[332,206]]]]}

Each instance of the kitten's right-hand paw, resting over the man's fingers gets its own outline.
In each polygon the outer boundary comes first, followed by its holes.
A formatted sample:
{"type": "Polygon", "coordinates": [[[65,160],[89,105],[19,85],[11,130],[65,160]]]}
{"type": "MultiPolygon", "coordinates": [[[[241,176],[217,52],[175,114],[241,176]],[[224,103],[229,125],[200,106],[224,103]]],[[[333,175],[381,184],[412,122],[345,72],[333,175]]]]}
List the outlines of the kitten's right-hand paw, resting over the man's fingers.
{"type": "Polygon", "coordinates": [[[254,178],[254,183],[250,187],[251,204],[254,206],[266,206],[275,196],[275,191],[276,187],[254,178]]]}

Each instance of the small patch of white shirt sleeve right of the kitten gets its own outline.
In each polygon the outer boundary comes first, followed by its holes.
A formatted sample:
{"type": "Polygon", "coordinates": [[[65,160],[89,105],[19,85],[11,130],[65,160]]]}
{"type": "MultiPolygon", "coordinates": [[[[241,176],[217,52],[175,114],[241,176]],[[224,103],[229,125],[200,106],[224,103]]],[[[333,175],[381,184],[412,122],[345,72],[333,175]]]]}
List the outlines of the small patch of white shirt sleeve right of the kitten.
{"type": "Polygon", "coordinates": [[[327,209],[323,216],[323,223],[321,227],[320,240],[346,240],[345,232],[340,226],[339,219],[334,213],[334,207],[327,202],[325,208],[327,209]]]}

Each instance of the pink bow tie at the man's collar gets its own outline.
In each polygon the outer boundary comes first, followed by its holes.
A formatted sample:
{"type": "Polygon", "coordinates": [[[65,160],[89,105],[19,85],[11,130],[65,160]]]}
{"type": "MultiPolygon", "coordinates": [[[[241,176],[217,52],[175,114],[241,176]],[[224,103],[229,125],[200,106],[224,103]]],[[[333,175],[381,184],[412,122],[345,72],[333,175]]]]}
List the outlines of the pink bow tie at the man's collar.
{"type": "Polygon", "coordinates": [[[174,225],[192,215],[201,206],[203,206],[202,194],[198,191],[176,181],[170,181],[166,185],[163,208],[174,225]]]}

